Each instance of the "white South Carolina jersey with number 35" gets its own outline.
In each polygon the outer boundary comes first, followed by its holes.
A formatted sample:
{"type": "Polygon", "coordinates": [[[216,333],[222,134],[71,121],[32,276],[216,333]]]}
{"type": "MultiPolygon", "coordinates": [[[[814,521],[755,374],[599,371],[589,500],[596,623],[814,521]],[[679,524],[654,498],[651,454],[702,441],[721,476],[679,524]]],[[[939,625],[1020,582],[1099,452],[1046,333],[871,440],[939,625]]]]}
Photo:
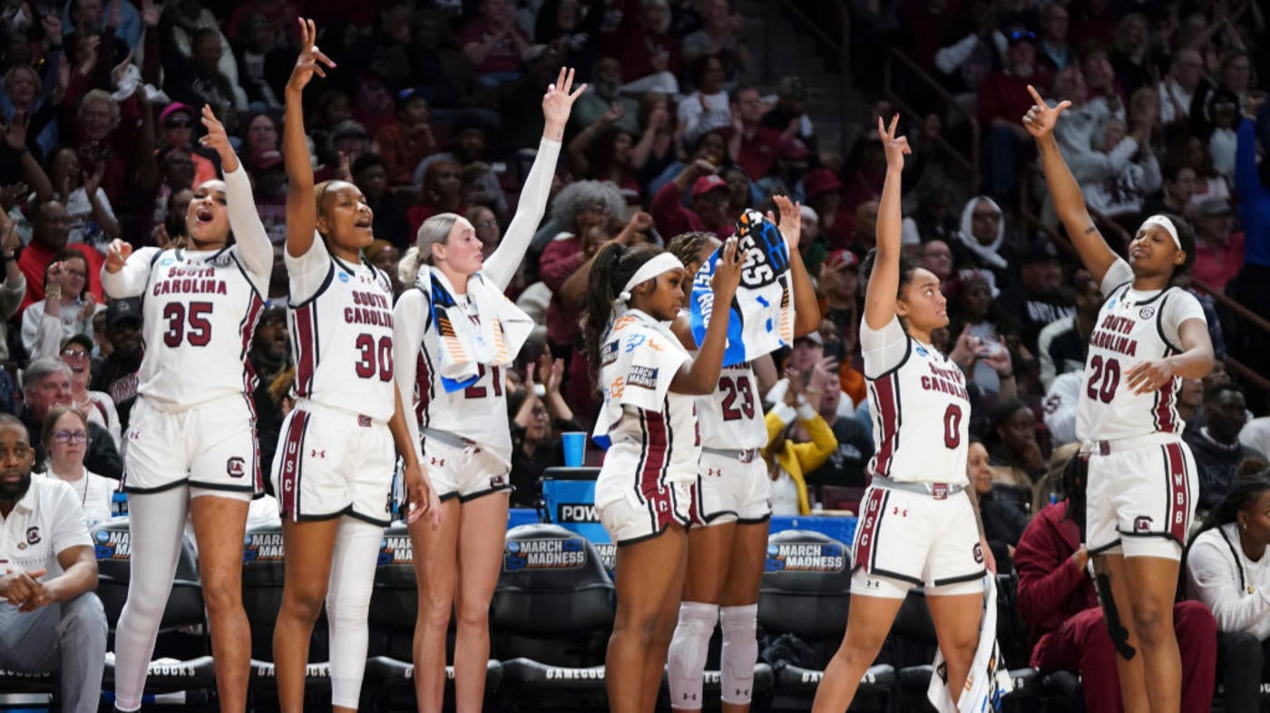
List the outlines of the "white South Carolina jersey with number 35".
{"type": "Polygon", "coordinates": [[[250,393],[257,379],[248,351],[264,308],[260,287],[236,245],[155,249],[141,299],[146,351],[137,393],[166,409],[250,393]]]}

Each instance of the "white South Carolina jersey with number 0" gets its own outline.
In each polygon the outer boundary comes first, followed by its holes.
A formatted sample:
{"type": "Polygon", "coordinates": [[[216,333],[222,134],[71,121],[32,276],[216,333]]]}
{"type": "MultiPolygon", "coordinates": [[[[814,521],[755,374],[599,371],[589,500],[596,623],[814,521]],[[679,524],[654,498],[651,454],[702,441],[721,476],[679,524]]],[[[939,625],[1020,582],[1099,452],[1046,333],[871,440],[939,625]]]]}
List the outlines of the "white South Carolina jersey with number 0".
{"type": "Polygon", "coordinates": [[[869,469],[899,482],[965,484],[970,398],[961,369],[909,337],[899,318],[860,325],[874,456],[869,469]]]}

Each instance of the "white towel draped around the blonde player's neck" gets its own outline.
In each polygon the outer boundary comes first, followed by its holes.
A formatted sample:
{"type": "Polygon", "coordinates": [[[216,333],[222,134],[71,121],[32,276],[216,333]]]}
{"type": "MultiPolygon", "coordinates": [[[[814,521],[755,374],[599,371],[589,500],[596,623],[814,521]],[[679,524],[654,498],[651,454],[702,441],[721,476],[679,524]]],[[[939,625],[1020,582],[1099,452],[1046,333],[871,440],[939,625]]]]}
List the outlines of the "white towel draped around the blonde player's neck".
{"type": "Polygon", "coordinates": [[[441,383],[446,393],[466,389],[480,377],[480,366],[507,366],[533,330],[533,320],[480,273],[467,278],[467,306],[437,268],[419,271],[415,287],[428,295],[432,325],[441,344],[441,383]],[[472,309],[475,308],[475,309],[472,309]]]}

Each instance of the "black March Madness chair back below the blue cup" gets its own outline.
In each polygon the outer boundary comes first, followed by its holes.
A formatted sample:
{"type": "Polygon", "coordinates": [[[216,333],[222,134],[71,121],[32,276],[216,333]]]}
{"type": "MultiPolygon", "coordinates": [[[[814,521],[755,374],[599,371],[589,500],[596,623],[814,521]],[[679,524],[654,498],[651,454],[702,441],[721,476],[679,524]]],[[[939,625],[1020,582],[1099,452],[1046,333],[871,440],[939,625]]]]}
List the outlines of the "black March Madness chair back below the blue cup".
{"type": "Polygon", "coordinates": [[[615,611],[613,582],[584,538],[559,525],[507,533],[490,609],[495,658],[601,665],[615,611]]]}

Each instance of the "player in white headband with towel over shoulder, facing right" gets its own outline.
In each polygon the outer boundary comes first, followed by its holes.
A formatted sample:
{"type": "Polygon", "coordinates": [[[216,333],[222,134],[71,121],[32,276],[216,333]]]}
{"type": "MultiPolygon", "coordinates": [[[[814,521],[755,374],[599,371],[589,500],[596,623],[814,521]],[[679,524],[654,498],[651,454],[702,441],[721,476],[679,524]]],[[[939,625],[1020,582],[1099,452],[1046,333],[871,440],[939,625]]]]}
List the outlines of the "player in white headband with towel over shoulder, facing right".
{"type": "MultiPolygon", "coordinates": [[[[743,261],[729,238],[711,280],[718,304],[732,304],[743,261]]],[[[685,280],[671,253],[608,243],[592,263],[583,309],[587,357],[603,397],[594,435],[612,442],[596,480],[596,510],[617,543],[617,616],[605,676],[616,713],[652,713],[657,704],[701,459],[692,395],[719,383],[730,322],[729,310],[716,311],[690,357],[663,324],[678,315],[685,280]]]]}

